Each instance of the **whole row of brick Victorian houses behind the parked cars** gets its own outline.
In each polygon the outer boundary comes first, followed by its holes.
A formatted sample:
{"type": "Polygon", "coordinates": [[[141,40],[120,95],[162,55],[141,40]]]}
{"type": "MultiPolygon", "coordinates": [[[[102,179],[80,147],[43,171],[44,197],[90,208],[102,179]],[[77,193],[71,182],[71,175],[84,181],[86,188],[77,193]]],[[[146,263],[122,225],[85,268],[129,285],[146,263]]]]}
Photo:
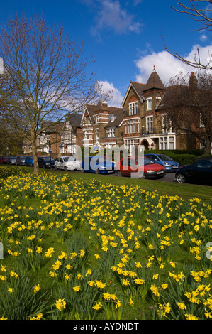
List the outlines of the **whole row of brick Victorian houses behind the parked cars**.
{"type": "Polygon", "coordinates": [[[52,126],[53,131],[40,138],[43,151],[48,153],[48,143],[56,134],[57,145],[51,148],[60,155],[76,153],[77,146],[112,149],[123,145],[129,152],[140,146],[157,150],[201,148],[194,136],[176,131],[167,122],[163,105],[167,89],[154,67],[146,83],[130,82],[121,107],[99,101],[86,105],[81,114],[70,113],[60,124],[60,138],[52,126]]]}

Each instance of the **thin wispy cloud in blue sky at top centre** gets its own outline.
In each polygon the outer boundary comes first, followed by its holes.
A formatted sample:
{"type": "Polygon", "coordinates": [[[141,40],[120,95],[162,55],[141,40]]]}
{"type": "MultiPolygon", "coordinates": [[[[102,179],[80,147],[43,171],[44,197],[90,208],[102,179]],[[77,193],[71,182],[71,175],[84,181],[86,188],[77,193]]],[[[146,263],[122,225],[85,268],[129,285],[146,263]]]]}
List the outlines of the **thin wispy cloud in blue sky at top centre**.
{"type": "Polygon", "coordinates": [[[133,31],[140,33],[141,24],[133,21],[133,16],[121,8],[118,0],[99,1],[101,8],[96,15],[96,26],[92,28],[94,35],[106,28],[111,28],[118,34],[133,31]]]}

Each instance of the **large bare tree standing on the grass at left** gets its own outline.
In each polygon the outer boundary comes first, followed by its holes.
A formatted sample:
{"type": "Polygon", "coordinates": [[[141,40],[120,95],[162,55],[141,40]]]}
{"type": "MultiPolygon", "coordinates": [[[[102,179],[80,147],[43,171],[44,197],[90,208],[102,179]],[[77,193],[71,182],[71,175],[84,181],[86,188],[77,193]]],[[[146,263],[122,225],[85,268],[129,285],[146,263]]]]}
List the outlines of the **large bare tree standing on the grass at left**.
{"type": "MultiPolygon", "coordinates": [[[[63,28],[50,28],[43,16],[10,18],[0,36],[4,75],[0,76],[1,113],[26,136],[38,173],[38,138],[44,121],[61,122],[103,94],[83,55],[84,43],[70,41],[63,28]]],[[[50,124],[45,122],[45,124],[50,124]]]]}

